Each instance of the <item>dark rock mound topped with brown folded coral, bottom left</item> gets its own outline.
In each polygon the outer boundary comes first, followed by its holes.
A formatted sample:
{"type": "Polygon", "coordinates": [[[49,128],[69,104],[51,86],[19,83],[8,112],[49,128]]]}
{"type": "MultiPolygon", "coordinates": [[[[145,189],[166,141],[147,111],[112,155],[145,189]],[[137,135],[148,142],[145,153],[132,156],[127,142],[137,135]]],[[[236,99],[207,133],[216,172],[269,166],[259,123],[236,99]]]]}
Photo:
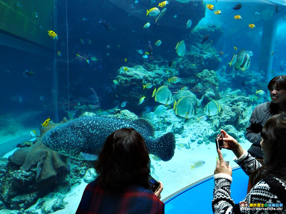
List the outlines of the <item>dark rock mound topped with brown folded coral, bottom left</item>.
{"type": "MultiPolygon", "coordinates": [[[[59,124],[64,122],[67,122],[65,118],[59,124]]],[[[6,161],[7,165],[3,167],[6,170],[1,167],[0,198],[8,208],[27,209],[59,184],[60,180],[56,175],[60,169],[63,177],[67,175],[65,157],[41,142],[44,134],[59,124],[50,121],[47,127],[41,130],[35,144],[17,149],[9,157],[9,161],[6,161]]]]}

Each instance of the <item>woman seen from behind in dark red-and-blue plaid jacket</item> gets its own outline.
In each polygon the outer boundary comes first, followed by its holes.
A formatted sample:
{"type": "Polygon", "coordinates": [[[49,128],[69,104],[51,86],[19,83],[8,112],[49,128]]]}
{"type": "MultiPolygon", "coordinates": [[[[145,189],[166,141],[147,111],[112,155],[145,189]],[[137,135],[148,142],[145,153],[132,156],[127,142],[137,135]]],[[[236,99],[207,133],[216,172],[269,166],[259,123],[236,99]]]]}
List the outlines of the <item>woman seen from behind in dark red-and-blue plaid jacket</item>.
{"type": "Polygon", "coordinates": [[[122,128],[106,139],[95,166],[98,178],[86,186],[76,214],[164,213],[163,184],[150,187],[150,158],[142,136],[122,128]]]}

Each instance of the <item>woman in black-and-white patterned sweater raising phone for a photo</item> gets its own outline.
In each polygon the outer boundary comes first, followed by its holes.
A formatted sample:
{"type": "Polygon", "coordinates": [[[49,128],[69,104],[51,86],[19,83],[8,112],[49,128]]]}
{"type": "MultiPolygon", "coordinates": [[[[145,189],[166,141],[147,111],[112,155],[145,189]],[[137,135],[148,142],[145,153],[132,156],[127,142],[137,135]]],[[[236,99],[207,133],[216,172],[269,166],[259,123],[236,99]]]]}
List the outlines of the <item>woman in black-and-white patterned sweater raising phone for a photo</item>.
{"type": "Polygon", "coordinates": [[[214,172],[212,200],[214,213],[286,213],[286,113],[272,116],[263,126],[260,142],[265,164],[263,166],[233,137],[224,130],[221,132],[225,142],[223,148],[233,151],[236,156],[234,161],[250,177],[253,185],[242,202],[256,207],[250,209],[235,204],[230,195],[232,169],[230,166],[226,167],[221,151],[218,150],[219,160],[214,172]]]}

